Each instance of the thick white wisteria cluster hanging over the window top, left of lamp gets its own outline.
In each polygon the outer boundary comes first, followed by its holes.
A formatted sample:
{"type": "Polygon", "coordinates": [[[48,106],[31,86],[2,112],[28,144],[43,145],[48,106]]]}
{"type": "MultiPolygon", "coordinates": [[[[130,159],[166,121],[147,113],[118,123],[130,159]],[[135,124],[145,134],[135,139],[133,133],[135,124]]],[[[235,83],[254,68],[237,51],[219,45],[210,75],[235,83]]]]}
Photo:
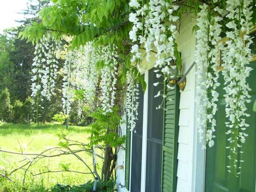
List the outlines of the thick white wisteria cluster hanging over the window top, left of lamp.
{"type": "MultiPolygon", "coordinates": [[[[176,60],[175,38],[177,28],[175,23],[179,20],[178,16],[174,16],[174,11],[179,9],[179,6],[163,0],[150,0],[145,4],[143,4],[143,1],[132,0],[129,5],[134,9],[134,12],[129,15],[129,20],[133,23],[129,35],[135,43],[131,47],[131,53],[133,54],[131,62],[142,60],[140,47],[146,50],[148,62],[150,62],[150,53],[156,52],[155,67],[160,69],[156,76],[164,76],[164,81],[170,77],[174,78],[176,76],[176,73],[174,73],[176,65],[172,63],[176,60]]],[[[160,95],[166,97],[164,93],[160,95]]]]}

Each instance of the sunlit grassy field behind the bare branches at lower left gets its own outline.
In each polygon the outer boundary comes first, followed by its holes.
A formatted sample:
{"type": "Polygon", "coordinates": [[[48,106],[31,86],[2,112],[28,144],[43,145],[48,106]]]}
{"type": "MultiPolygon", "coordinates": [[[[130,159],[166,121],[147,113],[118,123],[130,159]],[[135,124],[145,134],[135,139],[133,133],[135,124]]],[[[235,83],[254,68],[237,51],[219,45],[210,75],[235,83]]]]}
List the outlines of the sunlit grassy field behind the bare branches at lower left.
{"type": "MultiPolygon", "coordinates": [[[[0,149],[14,152],[23,151],[23,153],[40,153],[49,147],[57,146],[59,143],[57,133],[63,131],[65,131],[65,126],[56,124],[0,124],[0,149]]],[[[69,139],[87,143],[88,135],[85,132],[85,127],[70,126],[67,133],[69,139]]],[[[88,153],[80,152],[79,155],[92,167],[92,157],[88,153]]],[[[30,156],[0,152],[0,173],[5,173],[5,171],[10,173],[11,170],[24,163],[22,161],[24,158],[30,158],[30,156]]],[[[32,174],[36,174],[48,170],[65,170],[65,166],[68,166],[69,170],[88,172],[81,161],[73,155],[42,158],[31,167],[30,171],[32,174]]],[[[98,166],[100,166],[100,162],[98,166]]],[[[31,173],[27,174],[25,187],[22,187],[24,170],[19,170],[11,175],[11,180],[15,182],[0,178],[0,191],[48,191],[56,183],[77,185],[92,180],[90,174],[60,172],[33,177],[31,173]]]]}

